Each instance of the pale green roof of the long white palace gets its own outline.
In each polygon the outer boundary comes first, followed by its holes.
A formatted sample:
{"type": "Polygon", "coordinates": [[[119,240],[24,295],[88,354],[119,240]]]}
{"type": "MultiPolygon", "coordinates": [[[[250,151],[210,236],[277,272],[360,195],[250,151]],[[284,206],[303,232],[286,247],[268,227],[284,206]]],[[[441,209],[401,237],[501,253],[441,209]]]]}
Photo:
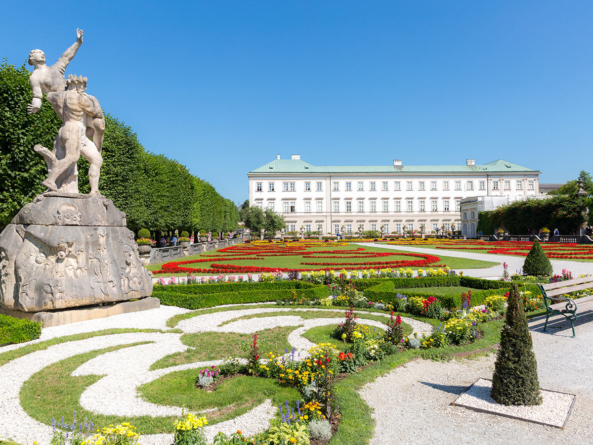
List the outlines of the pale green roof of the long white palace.
{"type": "Polygon", "coordinates": [[[300,159],[275,159],[249,173],[541,173],[503,159],[467,166],[314,166],[300,159]]]}

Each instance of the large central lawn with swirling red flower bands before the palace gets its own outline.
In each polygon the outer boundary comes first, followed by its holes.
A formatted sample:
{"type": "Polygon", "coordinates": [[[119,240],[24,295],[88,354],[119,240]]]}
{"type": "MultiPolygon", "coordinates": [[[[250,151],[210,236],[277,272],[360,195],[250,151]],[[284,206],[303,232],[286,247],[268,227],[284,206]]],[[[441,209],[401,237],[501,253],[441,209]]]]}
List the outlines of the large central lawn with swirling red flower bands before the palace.
{"type": "MultiPolygon", "coordinates": [[[[239,245],[241,246],[241,244],[239,245]]],[[[228,249],[228,248],[227,248],[228,249]]],[[[395,262],[395,261],[415,261],[424,260],[425,258],[418,257],[422,255],[413,252],[402,252],[393,249],[381,249],[377,247],[360,247],[358,244],[348,244],[346,246],[336,246],[335,243],[324,243],[321,246],[305,247],[298,252],[289,252],[290,255],[284,253],[273,253],[269,256],[238,256],[232,250],[225,250],[221,252],[220,249],[216,252],[206,252],[200,255],[187,256],[175,262],[186,262],[191,260],[206,260],[205,262],[190,263],[185,266],[187,268],[200,268],[208,269],[211,268],[212,264],[220,265],[231,265],[231,266],[254,266],[256,268],[280,268],[280,269],[319,269],[323,268],[324,265],[330,265],[335,270],[341,268],[356,268],[357,265],[362,267],[373,267],[375,269],[380,268],[400,268],[397,263],[389,265],[374,264],[377,262],[395,262]],[[357,250],[361,249],[361,250],[357,250]],[[388,255],[385,255],[388,254],[388,255]],[[230,258],[225,258],[229,255],[233,255],[230,258]],[[306,258],[311,257],[311,258],[306,258]],[[355,257],[355,258],[353,258],[355,257]],[[210,260],[210,261],[209,261],[210,260]],[[303,264],[303,263],[314,263],[314,264],[303,264]]],[[[239,251],[240,252],[240,251],[239,251]]],[[[435,252],[436,255],[436,252],[435,252]]],[[[411,269],[426,269],[436,267],[439,265],[447,265],[451,269],[476,269],[476,268],[489,268],[496,266],[498,262],[480,261],[465,258],[454,258],[450,256],[441,256],[440,252],[438,255],[439,260],[435,260],[432,263],[424,266],[411,266],[411,269]]],[[[167,262],[171,263],[171,262],[167,262]]],[[[167,263],[158,263],[149,265],[146,268],[149,271],[160,271],[162,266],[167,263]]],[[[407,268],[406,265],[404,267],[407,268]]],[[[170,273],[165,272],[164,276],[186,276],[188,272],[170,273]]],[[[219,272],[191,272],[192,275],[218,275],[219,272]]],[[[243,274],[245,272],[228,272],[229,274],[243,274]]],[[[254,272],[257,273],[257,272],[254,272]]]]}

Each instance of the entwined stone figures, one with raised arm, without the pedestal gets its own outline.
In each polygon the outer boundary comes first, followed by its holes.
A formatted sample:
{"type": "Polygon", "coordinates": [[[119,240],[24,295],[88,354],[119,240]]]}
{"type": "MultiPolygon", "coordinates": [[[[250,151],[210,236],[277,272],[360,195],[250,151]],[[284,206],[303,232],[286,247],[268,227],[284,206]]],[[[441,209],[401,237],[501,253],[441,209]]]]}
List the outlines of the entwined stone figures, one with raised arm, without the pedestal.
{"type": "Polygon", "coordinates": [[[98,105],[97,99],[84,93],[86,78],[84,78],[84,82],[81,82],[78,80],[80,78],[75,77],[76,80],[72,81],[76,84],[74,87],[70,87],[70,84],[64,78],[66,67],[74,59],[76,51],[82,45],[82,34],[82,30],[76,29],[76,42],[52,66],[48,67],[46,65],[45,53],[42,50],[34,49],[29,53],[29,65],[35,68],[29,78],[31,90],[33,91],[33,100],[30,104],[27,104],[27,112],[39,112],[43,93],[45,93],[56,114],[65,124],[60,129],[58,136],[56,136],[53,151],[39,144],[34,147],[34,150],[43,156],[49,171],[49,177],[43,182],[43,185],[53,192],[78,193],[76,161],[78,161],[79,155],[82,154],[91,164],[89,169],[91,194],[98,194],[99,173],[103,163],[101,148],[103,147],[103,134],[105,132],[103,112],[98,105]],[[66,93],[68,90],[75,90],[79,100],[72,93],[66,93]],[[82,97],[86,97],[88,100],[82,97]],[[94,111],[89,112],[90,109],[94,111]],[[66,121],[69,122],[68,129],[65,128],[66,121]],[[76,125],[75,122],[82,123],[82,126],[76,125]],[[77,128],[83,130],[78,144],[74,142],[72,125],[76,125],[77,128]],[[66,140],[69,141],[68,150],[64,145],[66,140]],[[74,162],[72,161],[73,157],[76,157],[74,162]],[[54,170],[53,173],[52,170],[54,170]]]}

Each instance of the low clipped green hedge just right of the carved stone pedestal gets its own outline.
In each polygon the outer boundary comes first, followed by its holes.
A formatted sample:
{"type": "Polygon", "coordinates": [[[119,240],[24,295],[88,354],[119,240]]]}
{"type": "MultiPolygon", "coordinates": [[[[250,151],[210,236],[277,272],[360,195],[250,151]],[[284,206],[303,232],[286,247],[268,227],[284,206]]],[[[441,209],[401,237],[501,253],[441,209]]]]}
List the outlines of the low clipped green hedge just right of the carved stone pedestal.
{"type": "Polygon", "coordinates": [[[330,295],[327,286],[292,281],[155,287],[152,296],[157,297],[165,306],[203,309],[221,304],[267,303],[285,300],[292,297],[293,289],[297,292],[298,297],[304,295],[308,300],[320,300],[330,295]]]}

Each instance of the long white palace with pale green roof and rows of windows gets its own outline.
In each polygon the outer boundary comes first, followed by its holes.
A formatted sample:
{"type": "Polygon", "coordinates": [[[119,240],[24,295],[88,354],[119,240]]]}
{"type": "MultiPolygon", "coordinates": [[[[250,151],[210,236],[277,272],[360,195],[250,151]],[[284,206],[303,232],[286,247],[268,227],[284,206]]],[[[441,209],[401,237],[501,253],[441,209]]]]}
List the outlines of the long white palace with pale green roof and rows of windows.
{"type": "MultiPolygon", "coordinates": [[[[462,230],[461,202],[474,196],[535,196],[541,171],[502,159],[453,166],[314,166],[300,155],[247,173],[249,202],[285,217],[288,231],[323,234],[462,230]]],[[[470,231],[470,230],[467,230],[470,231]]],[[[475,231],[475,228],[474,228],[475,231]]]]}

